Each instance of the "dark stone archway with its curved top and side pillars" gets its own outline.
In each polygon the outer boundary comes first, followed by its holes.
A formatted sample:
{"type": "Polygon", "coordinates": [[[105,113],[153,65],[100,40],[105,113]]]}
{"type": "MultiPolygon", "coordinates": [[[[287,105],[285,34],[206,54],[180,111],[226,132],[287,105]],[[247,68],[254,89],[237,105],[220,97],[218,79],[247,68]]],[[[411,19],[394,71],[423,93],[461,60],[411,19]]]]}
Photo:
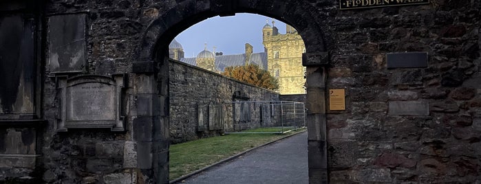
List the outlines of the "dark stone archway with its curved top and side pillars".
{"type": "Polygon", "coordinates": [[[160,14],[144,35],[138,60],[133,62],[139,96],[145,103],[138,103],[137,111],[147,111],[133,126],[142,122],[153,128],[139,145],[151,148],[138,149],[138,157],[151,154],[151,159],[138,159],[138,168],[152,171],[155,183],[169,181],[169,74],[168,45],[173,38],[204,19],[212,16],[231,16],[237,12],[263,14],[284,21],[295,27],[306,45],[303,65],[307,69],[308,108],[308,161],[310,183],[327,183],[327,154],[325,136],[325,68],[328,64],[324,34],[319,27],[319,17],[314,7],[306,1],[222,1],[211,0],[196,3],[182,1],[171,10],[160,14]],[[160,107],[160,108],[154,108],[160,107]]]}

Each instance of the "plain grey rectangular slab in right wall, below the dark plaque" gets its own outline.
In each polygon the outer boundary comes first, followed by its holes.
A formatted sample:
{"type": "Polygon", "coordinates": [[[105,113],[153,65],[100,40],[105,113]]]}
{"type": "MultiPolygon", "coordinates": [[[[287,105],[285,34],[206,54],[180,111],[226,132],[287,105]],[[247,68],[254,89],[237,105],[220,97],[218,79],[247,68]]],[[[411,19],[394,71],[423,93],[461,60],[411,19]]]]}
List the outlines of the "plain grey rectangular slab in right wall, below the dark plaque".
{"type": "Polygon", "coordinates": [[[420,101],[389,102],[389,115],[429,115],[429,104],[420,101]]]}

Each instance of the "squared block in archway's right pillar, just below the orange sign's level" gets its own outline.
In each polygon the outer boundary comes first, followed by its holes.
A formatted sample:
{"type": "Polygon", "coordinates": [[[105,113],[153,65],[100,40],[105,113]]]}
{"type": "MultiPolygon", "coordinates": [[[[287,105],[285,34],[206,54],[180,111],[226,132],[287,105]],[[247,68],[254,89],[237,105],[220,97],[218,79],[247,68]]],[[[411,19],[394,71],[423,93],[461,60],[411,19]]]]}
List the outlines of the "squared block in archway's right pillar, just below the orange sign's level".
{"type": "Polygon", "coordinates": [[[325,115],[308,115],[307,126],[309,141],[325,141],[325,115]]]}

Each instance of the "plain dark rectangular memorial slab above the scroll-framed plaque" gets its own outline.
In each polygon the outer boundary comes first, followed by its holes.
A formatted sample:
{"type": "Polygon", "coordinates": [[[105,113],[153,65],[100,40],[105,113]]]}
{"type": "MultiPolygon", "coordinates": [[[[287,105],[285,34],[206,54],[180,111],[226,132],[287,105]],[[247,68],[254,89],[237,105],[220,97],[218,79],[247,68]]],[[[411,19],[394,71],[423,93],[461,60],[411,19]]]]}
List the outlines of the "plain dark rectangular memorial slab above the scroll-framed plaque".
{"type": "Polygon", "coordinates": [[[50,16],[47,41],[47,70],[50,73],[71,73],[84,70],[86,61],[85,14],[50,16]]]}

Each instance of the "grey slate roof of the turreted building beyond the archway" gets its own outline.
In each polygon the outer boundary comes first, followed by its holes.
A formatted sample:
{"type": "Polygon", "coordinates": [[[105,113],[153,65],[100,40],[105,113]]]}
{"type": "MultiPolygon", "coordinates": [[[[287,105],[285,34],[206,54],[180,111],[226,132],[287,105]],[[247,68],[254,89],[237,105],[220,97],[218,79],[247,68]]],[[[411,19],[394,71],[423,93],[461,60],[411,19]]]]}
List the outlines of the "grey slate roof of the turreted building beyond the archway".
{"type": "MultiPolygon", "coordinates": [[[[245,60],[246,54],[215,56],[215,67],[219,71],[224,71],[226,67],[244,65],[245,60]]],[[[196,66],[195,58],[181,58],[180,61],[196,66]]],[[[249,63],[259,65],[261,69],[267,70],[267,54],[265,52],[253,53],[250,56],[249,63]]]]}

